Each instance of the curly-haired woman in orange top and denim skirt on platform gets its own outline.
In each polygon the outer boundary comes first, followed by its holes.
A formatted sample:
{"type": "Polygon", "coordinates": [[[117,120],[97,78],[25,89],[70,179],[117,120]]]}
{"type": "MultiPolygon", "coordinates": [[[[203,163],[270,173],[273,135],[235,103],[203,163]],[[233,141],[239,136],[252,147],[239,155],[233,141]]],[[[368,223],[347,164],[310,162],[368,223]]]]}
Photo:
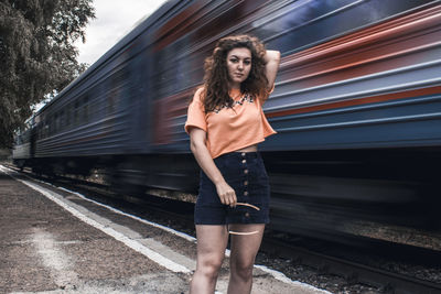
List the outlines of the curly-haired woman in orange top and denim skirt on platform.
{"type": "Polygon", "coordinates": [[[214,293],[229,235],[228,293],[251,292],[255,258],[269,222],[268,176],[257,143],[276,133],[261,107],[279,62],[278,51],[266,51],[248,35],[220,39],[205,59],[204,85],[189,106],[185,123],[202,168],[192,294],[214,293]]]}

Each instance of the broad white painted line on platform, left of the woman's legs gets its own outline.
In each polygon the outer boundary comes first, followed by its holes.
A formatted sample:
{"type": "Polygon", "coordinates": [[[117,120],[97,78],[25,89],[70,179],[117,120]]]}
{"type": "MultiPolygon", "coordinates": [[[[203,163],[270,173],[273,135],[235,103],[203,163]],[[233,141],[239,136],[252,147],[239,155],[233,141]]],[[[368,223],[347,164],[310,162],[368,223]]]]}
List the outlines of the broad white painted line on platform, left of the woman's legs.
{"type": "Polygon", "coordinates": [[[135,251],[140,252],[141,254],[146,255],[147,258],[149,258],[150,260],[157,262],[158,264],[166,268],[168,270],[173,271],[173,272],[183,272],[183,273],[190,273],[191,272],[191,270],[189,270],[187,268],[185,268],[185,266],[183,266],[181,264],[178,264],[178,263],[169,260],[168,258],[164,258],[163,255],[159,254],[158,252],[154,252],[153,250],[144,247],[140,242],[138,242],[136,240],[132,240],[132,239],[126,237],[125,235],[114,230],[112,228],[106,227],[106,226],[99,224],[98,221],[96,221],[96,220],[83,215],[77,209],[71,207],[67,204],[67,200],[63,199],[63,197],[57,195],[56,193],[46,190],[46,189],[44,189],[44,188],[42,188],[42,187],[37,186],[36,184],[31,183],[31,182],[17,178],[13,175],[11,175],[10,173],[8,173],[8,171],[4,171],[6,168],[3,168],[3,166],[1,166],[1,165],[0,165],[0,170],[3,173],[6,173],[6,174],[10,175],[11,177],[15,178],[17,181],[25,184],[26,186],[33,188],[36,192],[43,194],[45,197],[47,197],[52,202],[56,203],[57,205],[63,207],[65,210],[69,211],[73,216],[77,217],[78,219],[80,219],[82,221],[86,222],[87,225],[90,225],[90,226],[97,228],[98,230],[109,235],[110,237],[115,238],[116,240],[121,241],[127,247],[133,249],[135,251]]]}

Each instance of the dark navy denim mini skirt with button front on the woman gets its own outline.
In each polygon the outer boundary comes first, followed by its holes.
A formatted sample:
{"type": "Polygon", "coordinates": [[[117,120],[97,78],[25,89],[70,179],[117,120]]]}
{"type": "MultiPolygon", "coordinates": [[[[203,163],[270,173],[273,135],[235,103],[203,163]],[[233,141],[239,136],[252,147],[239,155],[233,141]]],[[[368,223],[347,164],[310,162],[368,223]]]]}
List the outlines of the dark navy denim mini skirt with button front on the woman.
{"type": "Polygon", "coordinates": [[[228,185],[236,192],[236,207],[220,203],[216,186],[201,170],[194,209],[195,225],[268,224],[270,190],[258,152],[230,152],[214,159],[228,185]]]}

